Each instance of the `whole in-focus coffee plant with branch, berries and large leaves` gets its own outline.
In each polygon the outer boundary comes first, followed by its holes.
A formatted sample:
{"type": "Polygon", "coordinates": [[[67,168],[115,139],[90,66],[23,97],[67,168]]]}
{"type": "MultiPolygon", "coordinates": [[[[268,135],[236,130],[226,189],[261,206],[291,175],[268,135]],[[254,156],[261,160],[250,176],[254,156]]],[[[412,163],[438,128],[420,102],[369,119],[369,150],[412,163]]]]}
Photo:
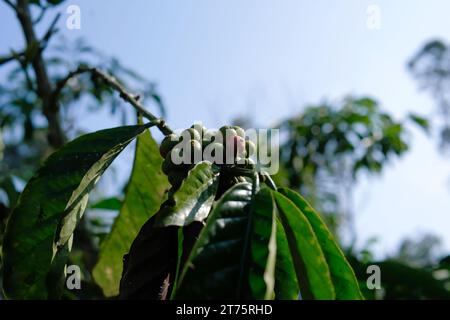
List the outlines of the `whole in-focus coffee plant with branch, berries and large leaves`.
{"type": "Polygon", "coordinates": [[[29,180],[4,236],[5,297],[61,297],[89,194],[136,139],[126,196],[93,272],[106,296],[362,298],[320,215],[261,170],[258,146],[243,129],[194,124],[177,134],[115,78],[86,66],[71,77],[81,73],[103,79],[148,122],[82,135],[51,154],[29,180]],[[165,135],[160,146],[151,127],[165,135]]]}

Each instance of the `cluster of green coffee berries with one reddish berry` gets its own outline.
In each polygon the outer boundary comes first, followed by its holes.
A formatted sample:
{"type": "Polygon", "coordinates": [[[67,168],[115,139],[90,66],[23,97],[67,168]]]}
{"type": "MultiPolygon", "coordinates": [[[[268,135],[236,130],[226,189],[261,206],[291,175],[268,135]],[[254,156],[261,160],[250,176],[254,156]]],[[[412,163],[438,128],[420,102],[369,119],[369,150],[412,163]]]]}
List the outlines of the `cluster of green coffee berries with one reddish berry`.
{"type": "Polygon", "coordinates": [[[219,130],[207,130],[199,124],[192,125],[181,134],[166,136],[160,145],[164,158],[162,171],[170,184],[178,188],[190,169],[201,161],[218,166],[235,166],[254,169],[249,158],[255,144],[246,140],[245,131],[238,126],[223,126],[219,130]]]}

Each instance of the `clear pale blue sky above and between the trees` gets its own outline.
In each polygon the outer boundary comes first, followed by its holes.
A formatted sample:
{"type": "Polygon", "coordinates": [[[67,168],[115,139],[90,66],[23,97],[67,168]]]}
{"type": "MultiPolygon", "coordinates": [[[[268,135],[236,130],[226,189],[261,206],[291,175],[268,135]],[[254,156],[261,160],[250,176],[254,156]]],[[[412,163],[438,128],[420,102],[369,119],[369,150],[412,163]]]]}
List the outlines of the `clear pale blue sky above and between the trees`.
{"type": "MultiPolygon", "coordinates": [[[[442,1],[68,1],[81,8],[84,37],[158,83],[175,128],[203,120],[220,126],[237,115],[263,127],[305,104],[368,94],[401,119],[428,115],[433,102],[405,64],[424,41],[450,40],[450,2],[442,1]],[[366,25],[380,8],[380,29],[366,25]]],[[[64,16],[66,17],[66,16],[64,16]]],[[[20,47],[9,8],[0,6],[0,48],[20,47]]],[[[83,115],[85,116],[85,115],[83,115]]],[[[87,117],[90,130],[110,125],[87,117]]],[[[360,244],[379,236],[379,255],[421,232],[450,250],[450,159],[436,139],[414,130],[412,149],[381,177],[358,186],[360,244]]]]}

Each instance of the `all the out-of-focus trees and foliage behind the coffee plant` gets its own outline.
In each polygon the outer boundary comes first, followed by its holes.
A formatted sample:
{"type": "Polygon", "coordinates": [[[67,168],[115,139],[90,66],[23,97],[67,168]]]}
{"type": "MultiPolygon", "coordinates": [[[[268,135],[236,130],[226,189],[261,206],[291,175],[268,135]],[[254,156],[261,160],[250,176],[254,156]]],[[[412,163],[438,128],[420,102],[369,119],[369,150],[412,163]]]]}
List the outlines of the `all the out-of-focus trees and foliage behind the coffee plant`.
{"type": "MultiPolygon", "coordinates": [[[[128,119],[129,113],[110,88],[88,74],[70,81],[58,93],[57,101],[53,101],[52,92],[68,72],[80,65],[107,71],[139,92],[144,104],[159,109],[164,116],[162,98],[153,82],[83,40],[69,42],[58,34],[56,22],[61,2],[3,2],[14,7],[13,10],[27,13],[18,14],[26,39],[24,47],[8,48],[9,52],[0,56],[0,66],[6,69],[6,77],[0,84],[0,246],[8,214],[24,183],[53,150],[83,134],[75,116],[80,105],[87,106],[89,112],[109,108],[111,117],[121,119],[124,124],[134,121],[128,119]],[[54,16],[47,32],[42,37],[30,36],[24,19],[29,19],[34,33],[34,28],[46,21],[43,17],[47,15],[54,16]],[[50,92],[42,88],[45,79],[40,65],[44,66],[50,92]],[[56,126],[51,121],[56,121],[56,126]]],[[[431,124],[436,124],[441,132],[442,148],[450,145],[448,46],[441,41],[428,42],[412,57],[408,67],[436,101],[437,112],[429,119],[409,114],[397,120],[383,111],[376,99],[349,96],[341,101],[306,106],[276,126],[281,129],[281,168],[274,179],[280,185],[300,191],[322,212],[336,237],[347,239],[342,243],[368,299],[450,298],[450,258],[439,250],[439,238],[423,234],[405,239],[398,252],[383,261],[375,260],[372,254],[376,239],[363,249],[353,246],[357,236],[353,217],[357,213],[352,208],[352,195],[358,179],[378,175],[391,159],[408,151],[410,126],[429,132],[431,124]],[[371,264],[379,265],[382,270],[382,290],[367,289],[366,270],[371,264]]],[[[252,121],[239,118],[234,123],[251,127],[252,121]]],[[[94,214],[85,215],[75,233],[70,263],[81,267],[83,289],[67,291],[67,299],[104,298],[91,275],[99,243],[111,225],[102,212],[118,211],[123,194],[122,188],[118,189],[118,197],[93,197],[89,211],[94,214]]]]}

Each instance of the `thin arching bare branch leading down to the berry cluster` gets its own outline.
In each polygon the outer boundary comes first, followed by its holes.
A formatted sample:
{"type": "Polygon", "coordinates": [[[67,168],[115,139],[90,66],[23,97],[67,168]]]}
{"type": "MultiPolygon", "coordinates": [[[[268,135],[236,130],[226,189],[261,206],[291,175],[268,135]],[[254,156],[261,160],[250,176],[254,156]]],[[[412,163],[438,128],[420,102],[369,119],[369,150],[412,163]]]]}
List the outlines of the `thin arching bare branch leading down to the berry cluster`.
{"type": "Polygon", "coordinates": [[[173,133],[172,129],[169,128],[169,126],[163,119],[157,118],[151,112],[145,109],[145,107],[139,102],[139,96],[129,93],[127,89],[121,83],[119,83],[119,81],[117,81],[116,78],[100,71],[97,68],[79,66],[76,70],[69,72],[67,76],[65,76],[56,83],[55,90],[53,91],[52,94],[53,103],[56,103],[62,89],[66,86],[69,80],[82,73],[91,73],[92,75],[99,77],[100,79],[105,81],[106,84],[108,84],[111,88],[119,92],[119,95],[123,100],[131,104],[140,114],[142,114],[143,117],[147,118],[150,122],[154,123],[164,135],[169,135],[173,133]]]}

